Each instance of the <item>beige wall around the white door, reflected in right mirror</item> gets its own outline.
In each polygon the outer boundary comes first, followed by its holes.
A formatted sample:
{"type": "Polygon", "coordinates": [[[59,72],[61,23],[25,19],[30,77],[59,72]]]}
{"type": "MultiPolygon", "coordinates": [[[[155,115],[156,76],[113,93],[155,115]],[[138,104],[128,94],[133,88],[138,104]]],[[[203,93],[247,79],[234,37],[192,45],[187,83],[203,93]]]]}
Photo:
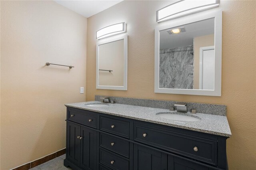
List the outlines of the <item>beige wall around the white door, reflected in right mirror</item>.
{"type": "Polygon", "coordinates": [[[194,38],[194,89],[199,89],[200,47],[214,46],[214,34],[194,38]]]}

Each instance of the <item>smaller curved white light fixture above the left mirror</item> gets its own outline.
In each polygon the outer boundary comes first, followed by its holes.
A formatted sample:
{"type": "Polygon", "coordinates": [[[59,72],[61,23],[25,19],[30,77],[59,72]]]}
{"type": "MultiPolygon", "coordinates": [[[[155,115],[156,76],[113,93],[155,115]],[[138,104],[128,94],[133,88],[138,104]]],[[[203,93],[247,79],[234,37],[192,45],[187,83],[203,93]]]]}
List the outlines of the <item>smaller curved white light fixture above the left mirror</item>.
{"type": "Polygon", "coordinates": [[[111,26],[104,27],[96,32],[96,39],[106,38],[126,32],[125,22],[113,24],[111,26]]]}

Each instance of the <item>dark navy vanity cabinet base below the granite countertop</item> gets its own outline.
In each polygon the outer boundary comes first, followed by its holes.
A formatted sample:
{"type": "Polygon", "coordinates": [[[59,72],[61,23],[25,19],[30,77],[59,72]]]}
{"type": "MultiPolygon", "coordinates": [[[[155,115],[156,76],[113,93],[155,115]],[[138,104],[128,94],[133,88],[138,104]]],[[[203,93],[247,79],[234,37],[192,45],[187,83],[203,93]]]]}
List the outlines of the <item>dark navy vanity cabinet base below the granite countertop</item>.
{"type": "Polygon", "coordinates": [[[67,107],[73,170],[226,170],[227,137],[67,107]]]}

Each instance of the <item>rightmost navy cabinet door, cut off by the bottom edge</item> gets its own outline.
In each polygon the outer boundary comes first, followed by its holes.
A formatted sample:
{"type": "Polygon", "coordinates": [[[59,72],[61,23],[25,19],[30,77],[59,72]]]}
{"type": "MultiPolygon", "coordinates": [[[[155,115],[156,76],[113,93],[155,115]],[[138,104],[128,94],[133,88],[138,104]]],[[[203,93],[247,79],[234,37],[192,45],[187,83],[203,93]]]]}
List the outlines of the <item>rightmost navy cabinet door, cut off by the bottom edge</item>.
{"type": "Polygon", "coordinates": [[[168,155],[168,170],[209,170],[209,168],[168,155]]]}

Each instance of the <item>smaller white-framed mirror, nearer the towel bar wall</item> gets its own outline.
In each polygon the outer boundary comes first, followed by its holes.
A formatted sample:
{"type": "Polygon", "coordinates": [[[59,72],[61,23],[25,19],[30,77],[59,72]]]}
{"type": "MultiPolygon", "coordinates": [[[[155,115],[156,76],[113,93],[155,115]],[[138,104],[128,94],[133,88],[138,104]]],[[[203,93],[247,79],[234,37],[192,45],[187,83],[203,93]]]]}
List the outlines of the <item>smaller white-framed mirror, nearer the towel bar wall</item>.
{"type": "Polygon", "coordinates": [[[96,89],[127,90],[128,36],[96,43],[96,89]]]}

